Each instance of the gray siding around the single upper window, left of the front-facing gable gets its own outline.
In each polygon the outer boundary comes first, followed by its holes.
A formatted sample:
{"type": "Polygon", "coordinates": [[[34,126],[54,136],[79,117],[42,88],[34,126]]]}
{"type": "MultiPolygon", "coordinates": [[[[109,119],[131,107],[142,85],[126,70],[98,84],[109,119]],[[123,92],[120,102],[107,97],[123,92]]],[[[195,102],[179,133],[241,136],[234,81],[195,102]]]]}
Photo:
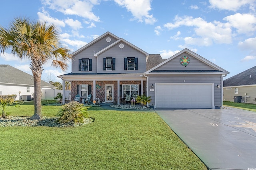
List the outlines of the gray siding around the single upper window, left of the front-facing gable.
{"type": "Polygon", "coordinates": [[[98,40],[97,42],[93,43],[83,51],[80,51],[80,53],[76,54],[74,56],[74,59],[72,60],[72,72],[97,72],[97,58],[94,57],[94,54],[99,52],[100,50],[104,49],[108,45],[114,43],[117,39],[110,35],[106,35],[105,37],[102,37],[102,39],[98,40]],[[106,38],[110,37],[111,41],[107,42],[106,38]],[[92,59],[92,71],[79,71],[79,59],[92,59]]]}

